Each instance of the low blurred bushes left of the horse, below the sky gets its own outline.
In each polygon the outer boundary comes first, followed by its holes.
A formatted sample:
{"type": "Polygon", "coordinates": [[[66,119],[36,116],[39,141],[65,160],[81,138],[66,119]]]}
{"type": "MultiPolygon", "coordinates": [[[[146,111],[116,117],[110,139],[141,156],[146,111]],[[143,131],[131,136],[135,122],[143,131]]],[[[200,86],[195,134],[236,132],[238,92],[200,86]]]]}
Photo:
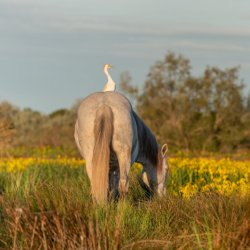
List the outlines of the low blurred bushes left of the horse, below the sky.
{"type": "Polygon", "coordinates": [[[73,148],[77,106],[45,115],[8,102],[0,103],[0,150],[5,153],[13,147],[73,148]]]}

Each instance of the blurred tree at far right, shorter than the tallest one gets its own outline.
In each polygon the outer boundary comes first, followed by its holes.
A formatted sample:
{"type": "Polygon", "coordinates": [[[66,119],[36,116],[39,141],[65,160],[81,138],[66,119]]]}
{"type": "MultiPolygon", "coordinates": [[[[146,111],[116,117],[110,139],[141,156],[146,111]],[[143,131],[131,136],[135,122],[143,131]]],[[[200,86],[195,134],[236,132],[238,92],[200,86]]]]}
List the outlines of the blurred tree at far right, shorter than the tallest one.
{"type": "Polygon", "coordinates": [[[235,149],[243,139],[243,84],[238,79],[238,71],[237,67],[226,70],[213,67],[204,72],[204,82],[210,85],[207,99],[212,131],[209,139],[213,140],[215,149],[235,149]]]}

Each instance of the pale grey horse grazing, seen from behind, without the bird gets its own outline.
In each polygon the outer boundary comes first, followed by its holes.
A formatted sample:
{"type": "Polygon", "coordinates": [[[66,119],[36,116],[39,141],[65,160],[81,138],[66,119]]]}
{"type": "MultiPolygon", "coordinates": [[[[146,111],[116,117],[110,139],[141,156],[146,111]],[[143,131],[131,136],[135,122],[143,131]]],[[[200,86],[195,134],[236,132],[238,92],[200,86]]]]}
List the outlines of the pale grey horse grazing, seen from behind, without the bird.
{"type": "Polygon", "coordinates": [[[74,136],[97,203],[107,201],[111,193],[127,193],[134,162],[143,165],[142,179],[150,190],[165,193],[167,145],[159,148],[123,95],[110,91],[86,97],[78,108],[74,136]]]}

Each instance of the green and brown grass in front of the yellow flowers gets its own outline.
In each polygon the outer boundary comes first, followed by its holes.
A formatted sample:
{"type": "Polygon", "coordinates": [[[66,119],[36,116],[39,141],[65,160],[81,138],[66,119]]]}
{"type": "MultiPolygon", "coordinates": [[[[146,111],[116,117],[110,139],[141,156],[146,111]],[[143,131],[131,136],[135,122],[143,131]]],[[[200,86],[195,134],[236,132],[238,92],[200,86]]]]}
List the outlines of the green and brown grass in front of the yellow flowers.
{"type": "Polygon", "coordinates": [[[93,204],[84,168],[0,174],[0,249],[249,249],[250,197],[168,193],[93,204]]]}

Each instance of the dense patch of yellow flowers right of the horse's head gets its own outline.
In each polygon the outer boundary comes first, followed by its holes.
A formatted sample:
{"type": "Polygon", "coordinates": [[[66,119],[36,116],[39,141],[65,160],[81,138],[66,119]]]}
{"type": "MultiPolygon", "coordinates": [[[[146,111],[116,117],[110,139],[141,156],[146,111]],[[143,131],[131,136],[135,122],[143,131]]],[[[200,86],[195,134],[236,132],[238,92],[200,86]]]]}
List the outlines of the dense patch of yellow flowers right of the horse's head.
{"type": "Polygon", "coordinates": [[[171,158],[169,188],[186,198],[197,192],[250,193],[250,161],[229,158],[171,158]]]}

